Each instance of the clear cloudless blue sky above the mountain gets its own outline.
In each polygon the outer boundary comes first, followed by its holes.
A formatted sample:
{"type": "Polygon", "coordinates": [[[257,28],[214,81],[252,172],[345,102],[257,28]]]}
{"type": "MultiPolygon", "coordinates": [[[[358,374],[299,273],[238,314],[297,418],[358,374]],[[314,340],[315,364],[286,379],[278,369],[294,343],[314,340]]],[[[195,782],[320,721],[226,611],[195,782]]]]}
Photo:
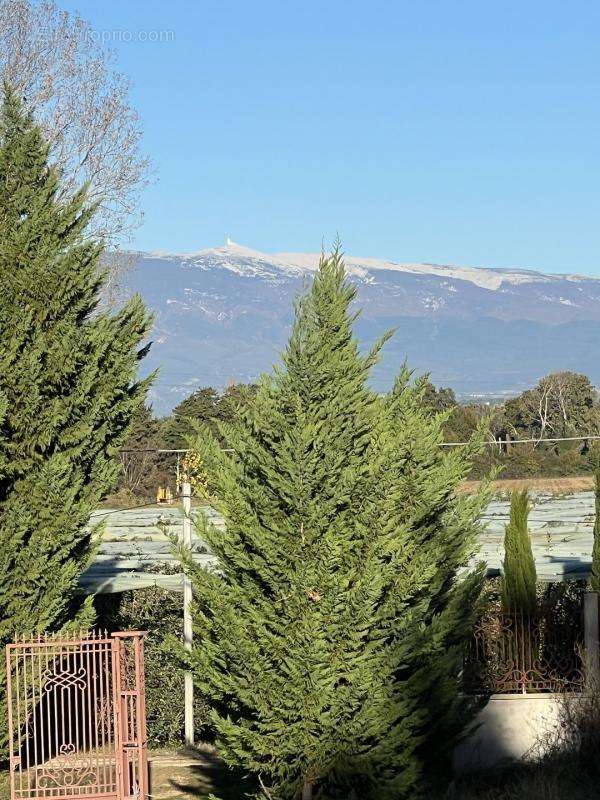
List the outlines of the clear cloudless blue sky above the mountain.
{"type": "Polygon", "coordinates": [[[157,182],[135,245],[600,275],[600,3],[58,0],[157,182]],[[157,31],[164,41],[150,41],[157,31]]]}

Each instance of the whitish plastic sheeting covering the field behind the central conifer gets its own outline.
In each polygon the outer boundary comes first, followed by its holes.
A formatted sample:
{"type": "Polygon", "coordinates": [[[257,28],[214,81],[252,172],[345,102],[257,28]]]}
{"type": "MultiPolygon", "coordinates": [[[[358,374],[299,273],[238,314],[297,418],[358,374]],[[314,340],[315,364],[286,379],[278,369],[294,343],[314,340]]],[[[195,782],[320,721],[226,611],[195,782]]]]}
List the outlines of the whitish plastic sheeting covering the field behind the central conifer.
{"type": "MultiPolygon", "coordinates": [[[[533,500],[529,529],[538,579],[550,582],[587,577],[593,543],[593,492],[564,497],[537,494],[533,500]]],[[[494,500],[483,519],[476,561],[487,563],[488,575],[500,572],[508,509],[508,500],[494,500]]],[[[192,514],[199,511],[194,509],[192,514]]],[[[224,526],[213,509],[204,507],[202,511],[218,527],[224,526]]],[[[181,535],[182,519],[182,511],[175,507],[97,511],[90,522],[103,521],[104,534],[93,565],[81,579],[82,589],[107,594],[160,586],[180,591],[181,573],[170,536],[181,535]]],[[[199,564],[215,565],[215,558],[195,531],[192,550],[199,564]]]]}

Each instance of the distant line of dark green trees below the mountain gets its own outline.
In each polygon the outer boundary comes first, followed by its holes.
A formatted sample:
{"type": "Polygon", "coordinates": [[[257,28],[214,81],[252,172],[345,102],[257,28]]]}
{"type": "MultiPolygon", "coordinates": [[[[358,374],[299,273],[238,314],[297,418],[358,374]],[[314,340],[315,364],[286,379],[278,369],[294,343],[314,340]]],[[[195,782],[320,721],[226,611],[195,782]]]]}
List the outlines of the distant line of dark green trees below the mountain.
{"type": "MultiPolygon", "coordinates": [[[[119,493],[151,499],[160,486],[171,486],[177,457],[157,455],[154,449],[185,449],[194,420],[213,431],[231,422],[252,397],[252,384],[234,384],[223,392],[207,386],[193,392],[171,414],[156,418],[143,408],[121,455],[119,493]]],[[[423,402],[434,413],[444,413],[447,442],[466,442],[483,419],[490,440],[476,457],[473,478],[500,468],[501,477],[560,477],[589,473],[600,463],[600,442],[551,442],[544,439],[600,435],[600,399],[589,378],[574,372],[555,372],[517,397],[496,404],[460,403],[453,390],[423,382],[423,402]],[[518,443],[521,439],[532,442],[518,443]]],[[[179,459],[181,462],[181,458],[179,459]]]]}

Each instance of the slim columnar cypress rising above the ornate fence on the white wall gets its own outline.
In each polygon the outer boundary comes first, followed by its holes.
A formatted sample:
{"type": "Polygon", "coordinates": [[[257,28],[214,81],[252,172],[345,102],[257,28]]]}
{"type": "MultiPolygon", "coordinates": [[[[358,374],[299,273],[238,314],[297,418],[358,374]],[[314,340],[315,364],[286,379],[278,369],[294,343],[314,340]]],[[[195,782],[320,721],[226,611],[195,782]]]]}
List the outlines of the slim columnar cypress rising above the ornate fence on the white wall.
{"type": "Polygon", "coordinates": [[[533,611],[536,606],[537,575],[527,527],[529,508],[526,490],[512,493],[502,577],[502,605],[507,611],[533,611]]]}

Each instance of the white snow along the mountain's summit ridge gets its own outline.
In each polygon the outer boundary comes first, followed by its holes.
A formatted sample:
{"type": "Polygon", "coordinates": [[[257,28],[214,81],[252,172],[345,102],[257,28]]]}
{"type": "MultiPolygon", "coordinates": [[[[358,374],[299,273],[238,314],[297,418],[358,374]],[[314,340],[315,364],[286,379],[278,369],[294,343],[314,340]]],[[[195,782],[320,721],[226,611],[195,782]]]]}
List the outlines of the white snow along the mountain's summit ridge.
{"type": "MultiPolygon", "coordinates": [[[[208,262],[241,275],[260,275],[276,278],[276,272],[301,275],[314,272],[319,264],[320,253],[263,253],[250,247],[227,240],[223,247],[205,248],[194,253],[144,253],[146,257],[177,260],[186,266],[208,268],[208,262]]],[[[404,263],[377,258],[361,258],[345,255],[344,260],[350,275],[363,280],[373,279],[373,272],[395,271],[414,275],[436,275],[452,280],[467,281],[483,289],[496,291],[504,284],[518,286],[526,283],[552,283],[558,280],[578,282],[600,280],[573,274],[553,275],[534,270],[463,267],[452,264],[404,263]]]]}

